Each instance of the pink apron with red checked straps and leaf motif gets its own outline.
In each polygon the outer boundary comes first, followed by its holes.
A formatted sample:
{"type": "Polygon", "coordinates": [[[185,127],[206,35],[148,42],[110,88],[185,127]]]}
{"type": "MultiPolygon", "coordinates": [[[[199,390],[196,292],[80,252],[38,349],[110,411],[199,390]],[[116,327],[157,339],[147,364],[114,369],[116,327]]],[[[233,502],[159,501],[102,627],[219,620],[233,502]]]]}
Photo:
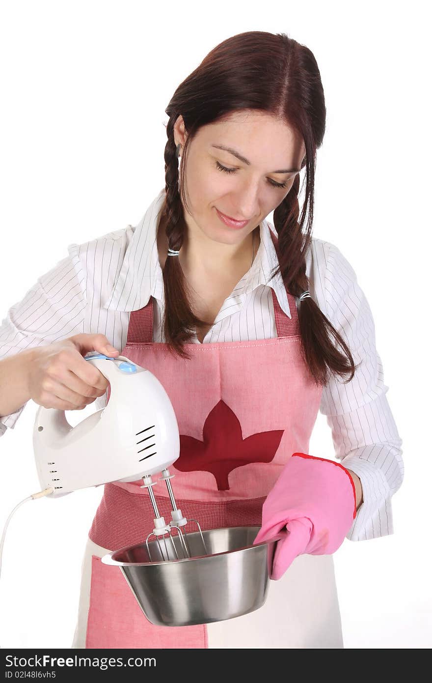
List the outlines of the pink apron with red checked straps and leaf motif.
{"type": "MultiPolygon", "coordinates": [[[[276,240],[273,234],[272,238],[276,240]]],[[[276,338],[186,344],[190,360],[173,357],[166,344],[152,341],[152,297],[130,315],[121,354],[150,370],[171,399],[180,434],[180,456],[169,468],[175,475],[171,483],[184,516],[197,519],[202,529],[261,526],[263,501],[288,458],[296,451],[308,453],[322,390],[309,377],[302,359],[295,298],[287,292],[289,318],[278,305],[274,290],[272,296],[276,338]]],[[[153,529],[154,512],[141,484],[139,479],[104,486],[89,531],[89,544],[95,550],[89,551],[85,647],[251,647],[235,645],[244,639],[248,624],[255,633],[261,629],[262,637],[268,633],[268,624],[278,632],[287,629],[286,645],[261,647],[343,647],[331,556],[296,558],[280,581],[270,583],[273,601],[268,598],[251,615],[177,628],[151,624],[121,570],[100,561],[104,550],[144,542],[153,529]],[[303,592],[299,592],[296,587],[302,577],[303,592]],[[284,582],[289,586],[285,597],[280,594],[284,582]],[[296,592],[303,597],[293,607],[290,601],[299,599],[296,592]],[[306,604],[310,596],[315,604],[306,604]],[[303,631],[309,635],[299,635],[296,640],[294,634],[303,628],[303,609],[308,615],[308,628],[303,631]],[[213,640],[209,645],[210,631],[213,640]],[[313,637],[308,640],[315,631],[321,633],[325,644],[315,644],[321,642],[321,636],[317,641],[313,637]]],[[[160,514],[171,519],[164,482],[158,482],[153,490],[160,514]]],[[[195,525],[191,530],[195,531],[195,525]]]]}

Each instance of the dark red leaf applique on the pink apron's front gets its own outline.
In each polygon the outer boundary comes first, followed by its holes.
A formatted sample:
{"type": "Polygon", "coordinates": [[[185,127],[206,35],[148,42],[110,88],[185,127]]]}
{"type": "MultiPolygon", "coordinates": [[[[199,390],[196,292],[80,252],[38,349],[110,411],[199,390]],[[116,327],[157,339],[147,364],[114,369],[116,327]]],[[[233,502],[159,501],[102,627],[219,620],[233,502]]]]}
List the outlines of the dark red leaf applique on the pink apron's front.
{"type": "Polygon", "coordinates": [[[203,441],[180,434],[180,456],[175,468],[181,472],[210,472],[218,490],[226,491],[228,475],[237,467],[273,460],[283,432],[259,432],[243,438],[237,416],[220,400],[205,419],[203,441]]]}

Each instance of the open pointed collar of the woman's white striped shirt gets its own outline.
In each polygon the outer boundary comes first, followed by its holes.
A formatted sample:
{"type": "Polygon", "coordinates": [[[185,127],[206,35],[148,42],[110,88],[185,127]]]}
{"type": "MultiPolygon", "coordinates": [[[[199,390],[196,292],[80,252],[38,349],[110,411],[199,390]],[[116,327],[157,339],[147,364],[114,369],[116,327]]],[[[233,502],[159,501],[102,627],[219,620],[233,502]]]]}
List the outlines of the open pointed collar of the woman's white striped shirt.
{"type": "MultiPolygon", "coordinates": [[[[116,311],[137,311],[147,305],[150,296],[158,299],[164,305],[164,285],[162,268],[158,257],[156,242],[156,228],[165,189],[162,188],[149,205],[138,225],[134,227],[132,238],[126,248],[124,261],[115,285],[108,296],[102,301],[102,308],[116,311]]],[[[272,287],[278,303],[283,311],[291,318],[287,292],[280,273],[272,279],[272,271],[278,266],[278,258],[272,237],[270,224],[263,220],[259,224],[261,242],[255,255],[252,267],[236,286],[235,298],[240,308],[246,294],[252,292],[259,285],[272,287]]],[[[233,313],[231,307],[230,312],[233,313]]],[[[216,317],[215,322],[220,320],[216,317]]]]}

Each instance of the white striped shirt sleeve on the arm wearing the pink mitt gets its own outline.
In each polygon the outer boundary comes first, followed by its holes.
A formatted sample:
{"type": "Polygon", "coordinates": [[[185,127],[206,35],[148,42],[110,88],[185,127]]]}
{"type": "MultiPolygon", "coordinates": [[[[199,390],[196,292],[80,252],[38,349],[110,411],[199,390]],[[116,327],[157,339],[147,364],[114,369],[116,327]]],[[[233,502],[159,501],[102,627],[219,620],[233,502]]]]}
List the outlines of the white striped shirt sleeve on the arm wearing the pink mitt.
{"type": "Polygon", "coordinates": [[[363,502],[346,535],[351,541],[394,533],[391,499],[403,481],[402,441],[388,404],[375,324],[356,273],[341,251],[319,240],[315,292],[326,316],[360,363],[351,382],[330,374],[319,410],[332,430],[335,456],[360,478],[363,502]]]}

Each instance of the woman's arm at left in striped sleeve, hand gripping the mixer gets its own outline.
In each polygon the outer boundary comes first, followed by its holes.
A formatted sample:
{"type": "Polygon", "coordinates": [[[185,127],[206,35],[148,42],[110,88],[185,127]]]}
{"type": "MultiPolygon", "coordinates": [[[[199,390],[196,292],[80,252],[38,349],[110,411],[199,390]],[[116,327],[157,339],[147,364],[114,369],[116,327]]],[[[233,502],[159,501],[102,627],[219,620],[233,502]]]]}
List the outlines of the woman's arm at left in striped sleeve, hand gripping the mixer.
{"type": "MultiPolygon", "coordinates": [[[[57,263],[10,307],[0,326],[0,436],[14,428],[31,398],[46,408],[74,410],[103,395],[107,382],[89,350],[110,355],[109,340],[85,334],[85,277],[76,259],[57,263]]],[[[115,355],[111,353],[111,355],[115,355]]]]}

